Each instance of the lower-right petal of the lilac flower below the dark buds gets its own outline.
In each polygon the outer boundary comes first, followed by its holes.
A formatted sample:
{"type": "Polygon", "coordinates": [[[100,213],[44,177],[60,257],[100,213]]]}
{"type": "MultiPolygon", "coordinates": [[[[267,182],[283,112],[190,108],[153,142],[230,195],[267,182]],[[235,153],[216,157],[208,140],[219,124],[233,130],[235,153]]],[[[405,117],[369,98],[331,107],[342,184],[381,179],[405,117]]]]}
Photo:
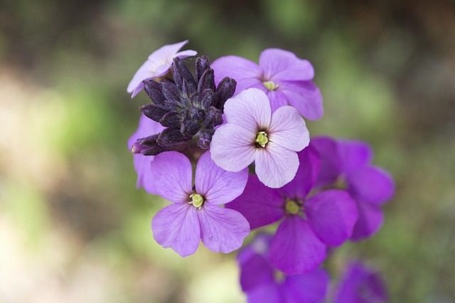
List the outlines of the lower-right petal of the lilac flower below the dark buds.
{"type": "Polygon", "coordinates": [[[214,252],[229,253],[242,246],[250,235],[250,224],[239,212],[205,203],[198,210],[201,238],[205,247],[214,252]]]}

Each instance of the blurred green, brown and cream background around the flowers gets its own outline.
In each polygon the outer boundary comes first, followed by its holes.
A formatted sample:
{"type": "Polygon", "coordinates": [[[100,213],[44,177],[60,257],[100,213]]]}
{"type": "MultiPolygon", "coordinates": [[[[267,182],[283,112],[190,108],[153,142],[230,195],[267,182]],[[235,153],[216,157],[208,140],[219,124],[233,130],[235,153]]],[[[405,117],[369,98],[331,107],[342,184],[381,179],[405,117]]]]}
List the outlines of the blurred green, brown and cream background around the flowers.
{"type": "Polygon", "coordinates": [[[156,48],[313,63],[311,134],[375,149],[397,193],[346,243],[391,302],[455,302],[455,1],[0,1],[0,302],[244,302],[235,254],[157,245],[166,201],[135,188],[127,84],[156,48]]]}

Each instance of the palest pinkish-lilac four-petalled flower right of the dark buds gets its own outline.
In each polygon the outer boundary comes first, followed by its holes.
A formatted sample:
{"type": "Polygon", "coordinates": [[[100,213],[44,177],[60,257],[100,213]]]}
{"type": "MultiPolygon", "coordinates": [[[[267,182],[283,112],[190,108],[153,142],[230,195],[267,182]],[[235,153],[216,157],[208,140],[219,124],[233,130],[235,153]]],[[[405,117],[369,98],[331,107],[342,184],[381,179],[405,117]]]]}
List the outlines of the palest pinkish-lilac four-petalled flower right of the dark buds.
{"type": "Polygon", "coordinates": [[[255,161],[259,180],[273,188],[294,179],[301,151],[309,144],[304,119],[294,107],[273,114],[267,95],[251,88],[225,103],[226,124],[213,134],[212,159],[227,171],[241,171],[255,161]]]}

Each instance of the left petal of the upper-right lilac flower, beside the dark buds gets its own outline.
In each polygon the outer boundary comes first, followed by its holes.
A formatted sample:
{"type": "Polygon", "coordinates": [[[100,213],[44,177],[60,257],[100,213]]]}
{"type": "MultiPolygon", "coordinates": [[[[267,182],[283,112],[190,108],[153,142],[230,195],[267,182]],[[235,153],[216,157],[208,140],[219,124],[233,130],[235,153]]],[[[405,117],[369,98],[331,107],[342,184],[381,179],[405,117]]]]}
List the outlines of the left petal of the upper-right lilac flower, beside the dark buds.
{"type": "Polygon", "coordinates": [[[237,81],[235,94],[250,87],[264,87],[260,78],[262,69],[256,63],[236,55],[221,57],[210,65],[215,72],[215,83],[218,85],[225,77],[237,81]]]}

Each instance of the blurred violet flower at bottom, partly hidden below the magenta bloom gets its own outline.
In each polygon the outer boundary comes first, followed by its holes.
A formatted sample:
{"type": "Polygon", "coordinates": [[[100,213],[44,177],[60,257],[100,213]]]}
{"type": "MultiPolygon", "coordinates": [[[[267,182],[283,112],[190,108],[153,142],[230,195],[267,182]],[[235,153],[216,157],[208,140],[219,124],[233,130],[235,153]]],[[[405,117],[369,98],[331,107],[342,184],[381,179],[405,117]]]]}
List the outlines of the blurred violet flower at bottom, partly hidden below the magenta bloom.
{"type": "Polygon", "coordinates": [[[240,285],[249,303],[316,303],[326,297],[328,275],[316,269],[284,275],[269,262],[272,235],[259,234],[237,255],[240,285]]]}

